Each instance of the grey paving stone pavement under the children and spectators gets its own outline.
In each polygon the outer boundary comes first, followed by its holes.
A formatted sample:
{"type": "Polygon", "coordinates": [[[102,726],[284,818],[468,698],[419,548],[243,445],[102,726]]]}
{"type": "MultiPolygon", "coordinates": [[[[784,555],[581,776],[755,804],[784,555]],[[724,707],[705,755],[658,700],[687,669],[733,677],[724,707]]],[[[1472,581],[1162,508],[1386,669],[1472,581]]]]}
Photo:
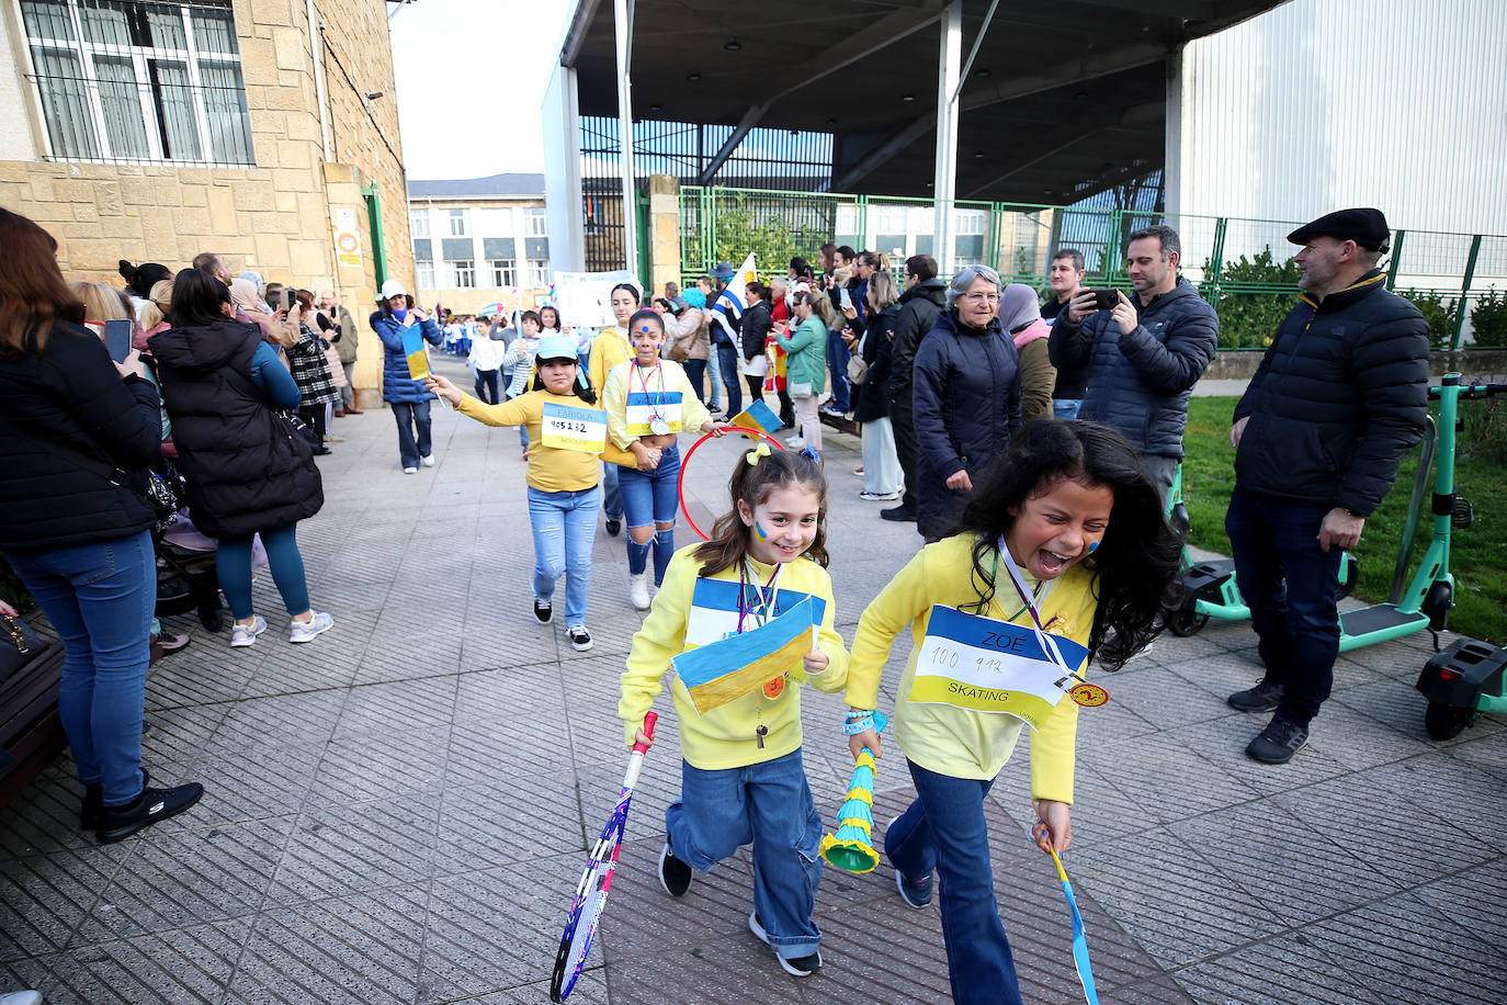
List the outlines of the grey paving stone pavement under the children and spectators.
{"type": "MultiPolygon", "coordinates": [[[[458,363],[440,365],[461,372],[458,363]]],[[[326,506],[300,526],[315,606],[336,627],[232,651],[193,645],[148,681],[154,779],[205,784],[188,814],[116,845],[77,829],[66,755],[0,820],[0,991],[83,1002],[543,1002],[583,851],[624,767],[616,675],[640,616],[621,538],[600,533],[588,624],[530,613],[532,539],[512,429],[434,411],[439,466],[405,476],[384,410],[341,419],[326,506]]],[[[737,446],[707,444],[687,493],[719,512],[737,446]]],[[[832,437],[839,628],[915,551],[857,499],[857,441],[832,437]]],[[[680,530],[678,541],[689,542],[680,530]]],[[[1364,557],[1364,556],[1362,556],[1364,557]]],[[[1507,993],[1507,726],[1450,743],[1412,683],[1429,640],[1355,651],[1293,764],[1242,755],[1260,720],[1224,696],[1258,677],[1243,625],[1159,639],[1079,731],[1067,856],[1109,1003],[1469,1003],[1507,993]]],[[[886,701],[904,660],[892,655],[886,701]]],[[[805,764],[830,815],[851,765],[835,696],[805,696],[805,764]]],[[[946,1000],[937,912],[827,869],[824,967],[785,976],[746,927],[747,854],[683,901],[654,877],[677,794],[677,723],[648,756],[591,967],[573,1000],[946,1000]]],[[[990,794],[996,890],[1026,1000],[1082,1000],[1050,863],[1023,836],[1025,750],[990,794]]],[[[912,790],[880,762],[876,818],[912,790]]],[[[876,844],[879,844],[876,841],[876,844]]]]}

